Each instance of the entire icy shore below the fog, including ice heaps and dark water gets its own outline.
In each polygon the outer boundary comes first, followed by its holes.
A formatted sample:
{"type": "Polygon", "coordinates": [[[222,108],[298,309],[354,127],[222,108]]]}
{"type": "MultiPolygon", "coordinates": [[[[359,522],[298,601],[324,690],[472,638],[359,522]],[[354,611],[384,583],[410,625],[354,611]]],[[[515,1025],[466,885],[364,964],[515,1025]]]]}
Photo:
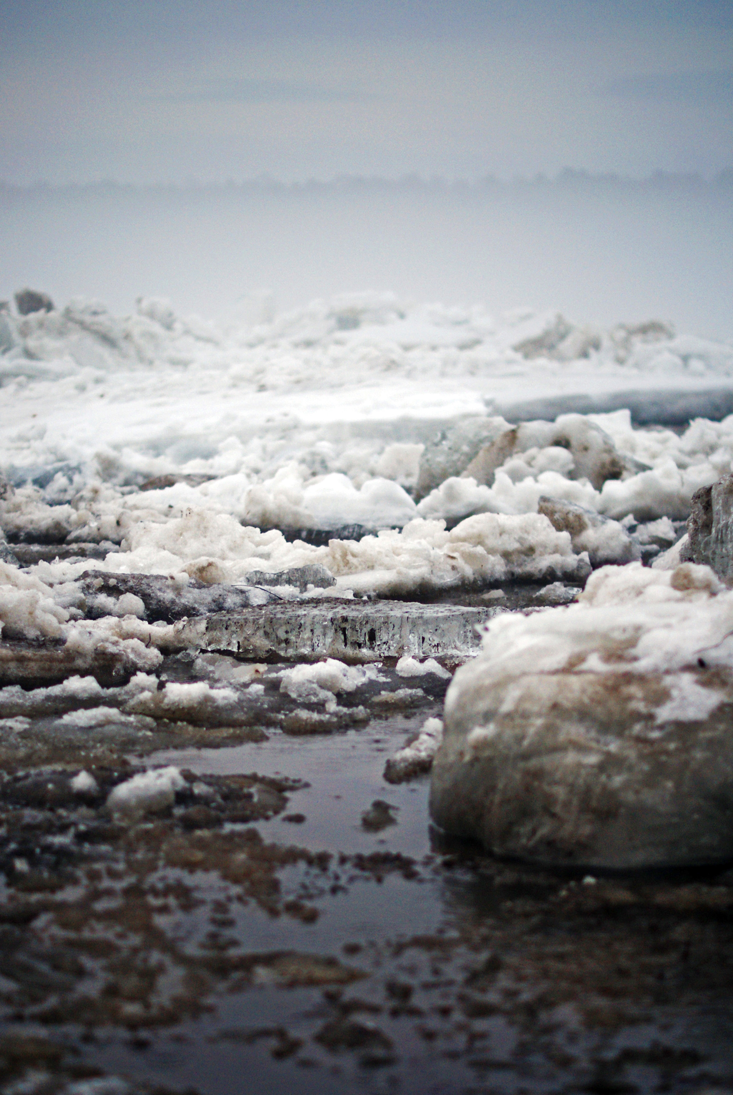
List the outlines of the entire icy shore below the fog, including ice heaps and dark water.
{"type": "Polygon", "coordinates": [[[378,295],[3,338],[0,1080],[580,1090],[612,1023],[666,1083],[731,953],[733,349],[378,295]]]}

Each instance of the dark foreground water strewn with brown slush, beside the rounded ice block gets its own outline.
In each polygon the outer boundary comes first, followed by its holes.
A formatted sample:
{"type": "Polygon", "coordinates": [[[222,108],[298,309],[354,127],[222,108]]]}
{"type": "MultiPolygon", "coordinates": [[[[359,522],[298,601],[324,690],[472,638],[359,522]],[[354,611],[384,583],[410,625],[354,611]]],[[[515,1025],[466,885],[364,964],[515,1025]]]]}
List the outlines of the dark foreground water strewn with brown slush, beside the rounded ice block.
{"type": "Polygon", "coordinates": [[[382,771],[444,688],[340,734],[146,748],[188,781],[158,816],[11,776],[3,1091],[729,1090],[733,873],[561,875],[442,839],[427,777],[382,771]]]}

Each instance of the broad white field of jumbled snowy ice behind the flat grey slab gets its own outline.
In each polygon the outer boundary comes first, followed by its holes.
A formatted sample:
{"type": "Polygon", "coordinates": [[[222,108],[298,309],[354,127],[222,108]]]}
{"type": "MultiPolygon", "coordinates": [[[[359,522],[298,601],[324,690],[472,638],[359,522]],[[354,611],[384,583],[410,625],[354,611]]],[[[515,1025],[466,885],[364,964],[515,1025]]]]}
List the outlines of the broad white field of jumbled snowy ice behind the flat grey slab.
{"type": "MultiPolygon", "coordinates": [[[[537,520],[542,496],[615,520],[683,520],[692,493],[732,466],[733,415],[680,435],[632,428],[625,410],[516,429],[495,413],[527,393],[730,396],[733,347],[660,322],[573,327],[552,312],[492,316],[374,292],[254,326],[179,318],[160,300],[124,318],[76,300],[4,322],[0,469],[15,492],[3,492],[0,523],[11,541],[110,549],[105,561],[39,564],[50,600],[0,575],[8,634],[58,636],[79,613],[57,587],[94,566],[237,583],[321,563],[357,595],[580,580],[577,560],[599,540],[602,561],[630,557],[611,543],[623,535],[558,540],[537,520]],[[501,459],[466,449],[477,419],[501,435],[501,459]],[[421,497],[445,430],[466,460],[421,497]],[[473,523],[458,537],[439,523],[462,518],[473,523]],[[344,526],[403,531],[324,548],[276,531],[344,526]]],[[[144,615],[124,600],[108,614],[144,615]]]]}

